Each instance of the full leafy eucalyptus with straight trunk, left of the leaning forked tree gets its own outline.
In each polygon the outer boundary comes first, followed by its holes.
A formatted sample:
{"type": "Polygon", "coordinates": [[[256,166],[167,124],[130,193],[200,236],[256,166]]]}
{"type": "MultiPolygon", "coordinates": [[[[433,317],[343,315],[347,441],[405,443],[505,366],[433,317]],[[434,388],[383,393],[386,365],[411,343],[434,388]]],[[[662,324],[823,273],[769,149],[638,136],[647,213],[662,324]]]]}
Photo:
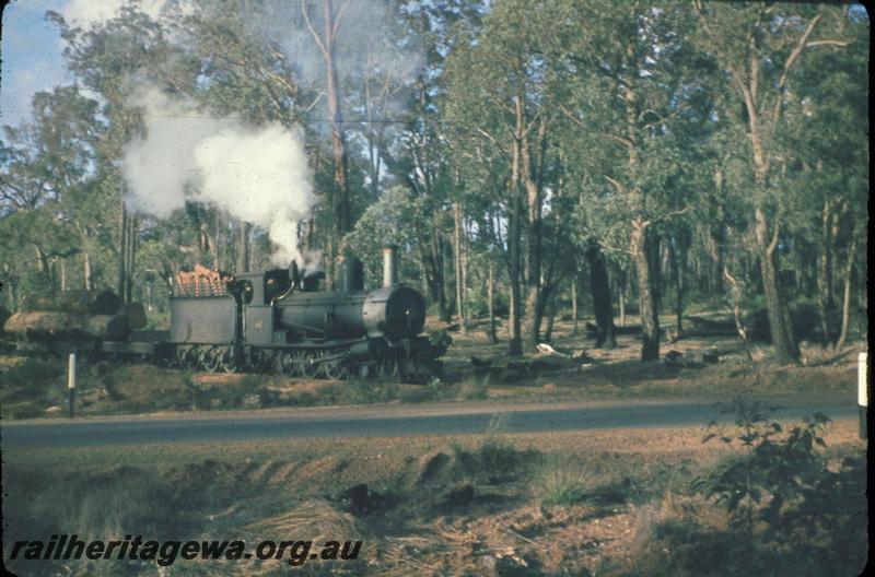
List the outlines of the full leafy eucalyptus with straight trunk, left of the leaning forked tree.
{"type": "Polygon", "coordinates": [[[660,355],[660,244],[689,210],[678,130],[691,94],[685,68],[691,48],[678,34],[689,11],[644,2],[573,5],[570,17],[582,32],[567,40],[568,97],[560,108],[579,137],[572,129],[565,138],[599,151],[579,156],[576,180],[602,248],[632,260],[641,358],[652,361],[660,355]]]}

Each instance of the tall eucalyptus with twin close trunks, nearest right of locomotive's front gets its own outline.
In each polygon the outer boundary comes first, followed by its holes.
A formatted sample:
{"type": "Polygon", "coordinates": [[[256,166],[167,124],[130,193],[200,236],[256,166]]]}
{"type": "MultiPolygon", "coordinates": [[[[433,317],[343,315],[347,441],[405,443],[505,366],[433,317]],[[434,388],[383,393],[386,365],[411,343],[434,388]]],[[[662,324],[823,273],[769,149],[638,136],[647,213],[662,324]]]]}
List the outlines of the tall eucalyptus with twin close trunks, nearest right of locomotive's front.
{"type": "Polygon", "coordinates": [[[555,82],[544,30],[561,4],[510,0],[492,7],[476,40],[456,46],[447,62],[445,118],[457,156],[480,178],[502,182],[511,295],[510,350],[540,338],[544,203],[555,82]],[[525,251],[525,254],[524,254],[525,251]],[[523,283],[528,294],[523,298],[523,283]]]}

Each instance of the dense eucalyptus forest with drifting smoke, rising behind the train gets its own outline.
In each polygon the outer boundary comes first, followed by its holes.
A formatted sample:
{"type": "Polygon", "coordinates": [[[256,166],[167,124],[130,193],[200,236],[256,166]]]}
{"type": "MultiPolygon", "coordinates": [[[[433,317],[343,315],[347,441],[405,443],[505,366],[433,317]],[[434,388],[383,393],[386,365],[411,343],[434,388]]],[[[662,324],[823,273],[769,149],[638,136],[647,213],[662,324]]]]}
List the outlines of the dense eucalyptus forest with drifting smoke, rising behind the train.
{"type": "Polygon", "coordinates": [[[795,315],[838,349],[866,322],[859,5],[159,4],[46,13],[72,81],[2,128],[10,310],[108,287],[160,319],[196,263],[376,283],[394,243],[435,316],[512,353],[584,307],[599,345],[640,317],[643,360],[693,307],[761,311],[780,362],[795,315]]]}

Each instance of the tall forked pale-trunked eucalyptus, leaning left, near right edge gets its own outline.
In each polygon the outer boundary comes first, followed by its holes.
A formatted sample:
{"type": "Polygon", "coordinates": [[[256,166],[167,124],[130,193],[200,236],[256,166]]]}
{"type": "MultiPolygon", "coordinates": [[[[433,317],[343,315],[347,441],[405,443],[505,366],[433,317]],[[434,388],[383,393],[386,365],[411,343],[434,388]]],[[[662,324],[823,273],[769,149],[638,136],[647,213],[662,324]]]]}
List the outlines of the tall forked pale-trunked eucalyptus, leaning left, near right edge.
{"type": "Polygon", "coordinates": [[[848,46],[848,8],[826,4],[695,2],[695,39],[711,54],[742,103],[740,127],[750,165],[749,212],[775,356],[800,360],[788,295],[780,276],[793,190],[783,176],[793,151],[781,145],[797,92],[802,61],[817,50],[848,46]]]}

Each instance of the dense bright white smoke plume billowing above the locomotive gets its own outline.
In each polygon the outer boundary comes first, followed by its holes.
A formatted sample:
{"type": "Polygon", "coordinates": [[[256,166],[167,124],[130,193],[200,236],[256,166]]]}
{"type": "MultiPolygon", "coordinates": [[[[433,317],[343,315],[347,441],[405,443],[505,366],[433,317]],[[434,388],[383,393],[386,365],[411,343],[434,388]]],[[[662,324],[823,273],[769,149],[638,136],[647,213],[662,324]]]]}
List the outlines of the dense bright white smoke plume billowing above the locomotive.
{"type": "Polygon", "coordinates": [[[211,118],[155,89],[133,101],[143,108],[145,136],[125,150],[130,209],[166,219],[186,201],[212,202],[266,229],[275,264],[302,261],[298,222],[316,197],[300,130],[211,118]]]}

